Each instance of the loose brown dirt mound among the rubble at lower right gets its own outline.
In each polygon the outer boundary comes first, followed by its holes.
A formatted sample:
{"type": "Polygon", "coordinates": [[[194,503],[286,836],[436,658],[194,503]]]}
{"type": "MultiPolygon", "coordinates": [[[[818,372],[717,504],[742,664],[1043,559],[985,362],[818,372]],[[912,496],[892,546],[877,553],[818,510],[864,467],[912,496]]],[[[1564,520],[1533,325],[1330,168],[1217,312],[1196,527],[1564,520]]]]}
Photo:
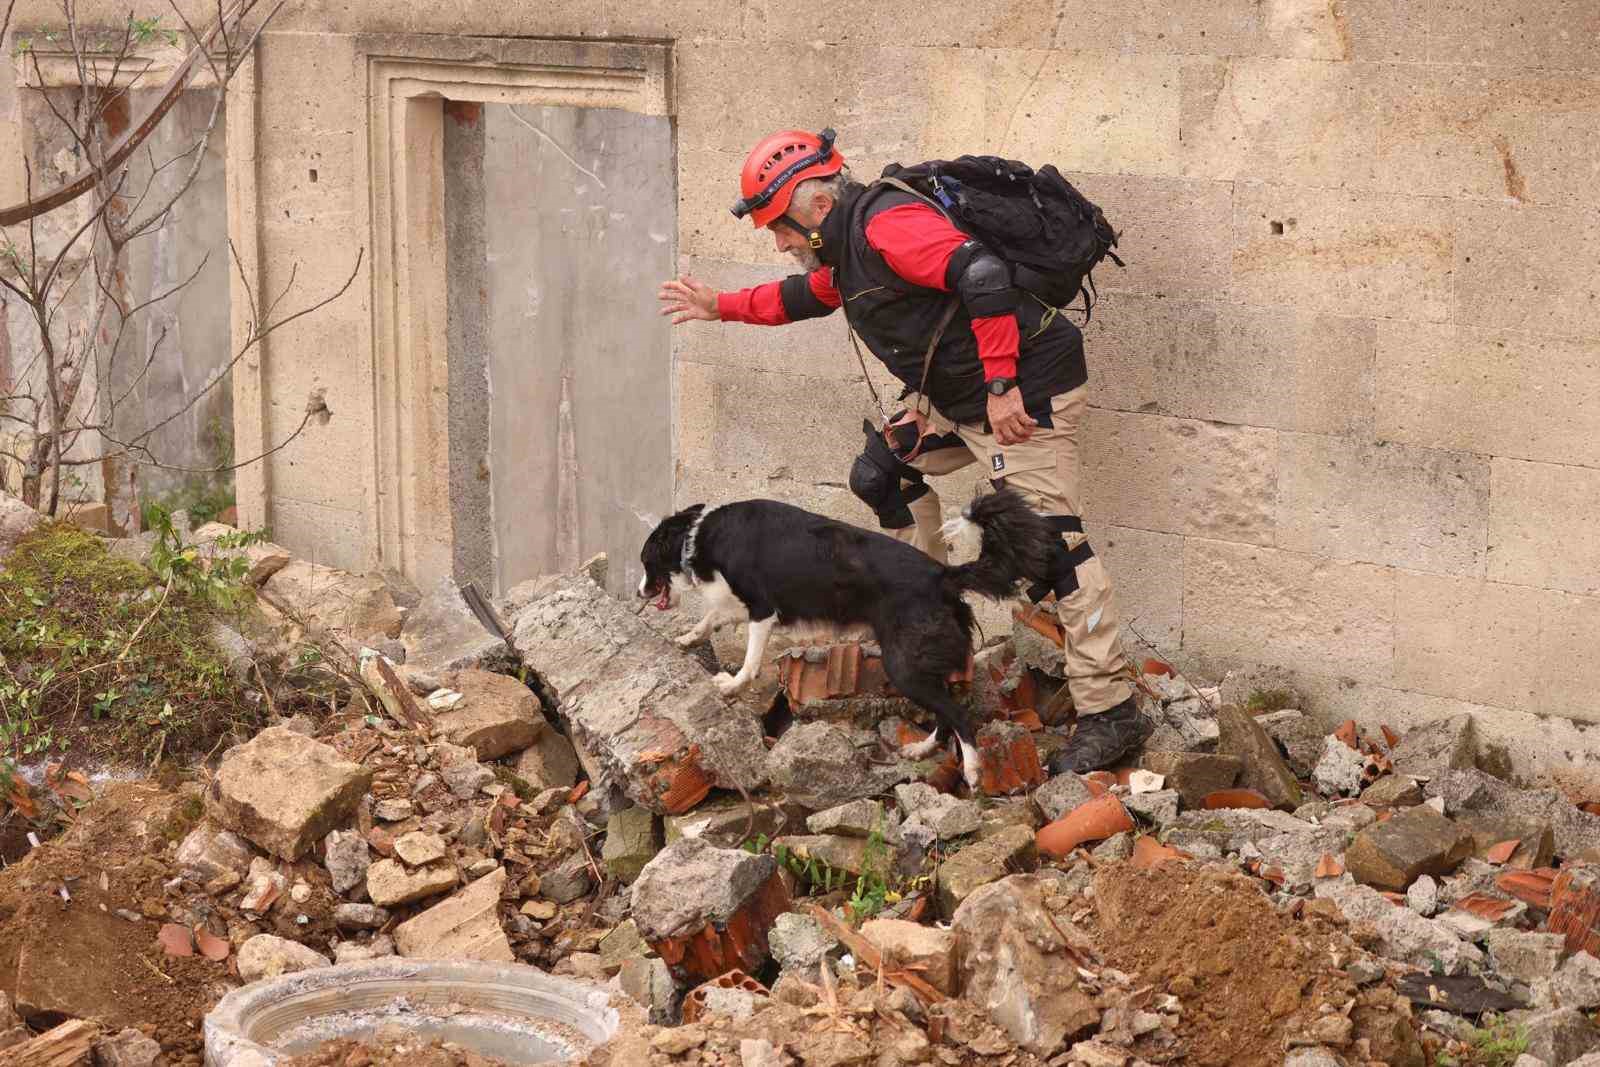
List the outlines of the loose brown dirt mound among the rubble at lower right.
{"type": "Polygon", "coordinates": [[[1186,1064],[1277,1067],[1290,1041],[1422,1062],[1410,1008],[1344,974],[1360,950],[1317,904],[1280,912],[1243,875],[1179,862],[1106,867],[1094,901],[1106,960],[1182,1003],[1186,1064]]]}

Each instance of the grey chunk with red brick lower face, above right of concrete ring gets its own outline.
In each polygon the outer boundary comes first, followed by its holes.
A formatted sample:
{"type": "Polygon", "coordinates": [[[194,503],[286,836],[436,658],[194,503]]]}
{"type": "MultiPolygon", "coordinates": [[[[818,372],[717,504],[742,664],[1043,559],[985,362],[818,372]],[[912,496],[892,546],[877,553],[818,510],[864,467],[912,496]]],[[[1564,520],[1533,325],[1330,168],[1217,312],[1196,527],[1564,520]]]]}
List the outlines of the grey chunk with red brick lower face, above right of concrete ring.
{"type": "Polygon", "coordinates": [[[685,838],[645,865],[634,921],[674,974],[709,981],[768,958],[768,931],[789,910],[778,861],[685,838]]]}

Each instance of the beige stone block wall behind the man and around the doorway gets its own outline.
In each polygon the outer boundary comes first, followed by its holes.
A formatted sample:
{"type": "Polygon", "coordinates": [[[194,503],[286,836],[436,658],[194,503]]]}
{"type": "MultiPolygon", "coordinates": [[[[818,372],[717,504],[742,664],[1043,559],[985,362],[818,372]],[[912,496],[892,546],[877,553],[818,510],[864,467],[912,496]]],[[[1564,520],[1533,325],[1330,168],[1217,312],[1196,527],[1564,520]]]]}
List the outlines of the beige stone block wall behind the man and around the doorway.
{"type": "MultiPolygon", "coordinates": [[[[301,3],[259,58],[262,266],[326,283],[371,242],[360,34],[670,42],[680,267],[722,286],[782,270],[726,211],[773,128],[834,125],[861,174],[1054,162],[1125,232],[1085,445],[1133,627],[1330,718],[1475,710],[1560,760],[1594,734],[1541,717],[1600,720],[1597,32],[1531,0],[301,3]]],[[[270,432],[310,386],[334,413],[274,461],[277,534],[352,565],[376,490],[323,458],[371,448],[382,285],[264,360],[270,432]]],[[[674,346],[678,502],[869,520],[840,322],[674,346]]]]}

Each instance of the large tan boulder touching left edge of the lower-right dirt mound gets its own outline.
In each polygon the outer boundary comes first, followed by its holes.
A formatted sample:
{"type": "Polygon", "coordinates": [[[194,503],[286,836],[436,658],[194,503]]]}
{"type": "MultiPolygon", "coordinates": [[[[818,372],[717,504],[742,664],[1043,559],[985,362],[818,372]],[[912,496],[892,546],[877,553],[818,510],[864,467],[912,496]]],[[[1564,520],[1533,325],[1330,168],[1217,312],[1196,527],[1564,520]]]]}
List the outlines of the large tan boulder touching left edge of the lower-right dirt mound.
{"type": "Polygon", "coordinates": [[[963,997],[1024,1049],[1048,1056],[1067,1037],[1099,1024],[1094,997],[1072,965],[1070,923],[1051,917],[1045,883],[1011,875],[974,889],[952,931],[963,997]]]}

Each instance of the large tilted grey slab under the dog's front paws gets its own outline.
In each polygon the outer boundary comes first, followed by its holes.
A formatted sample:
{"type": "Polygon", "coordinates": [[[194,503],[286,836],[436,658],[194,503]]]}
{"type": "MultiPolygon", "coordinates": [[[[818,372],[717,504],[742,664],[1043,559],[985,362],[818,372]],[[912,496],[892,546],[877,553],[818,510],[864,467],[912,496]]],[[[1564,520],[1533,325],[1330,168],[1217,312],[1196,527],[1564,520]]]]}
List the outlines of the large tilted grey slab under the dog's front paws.
{"type": "Polygon", "coordinates": [[[637,805],[678,814],[712,787],[765,784],[758,720],[730,713],[690,653],[590,579],[552,582],[517,616],[512,645],[610,779],[594,782],[598,792],[616,784],[637,805]]]}

